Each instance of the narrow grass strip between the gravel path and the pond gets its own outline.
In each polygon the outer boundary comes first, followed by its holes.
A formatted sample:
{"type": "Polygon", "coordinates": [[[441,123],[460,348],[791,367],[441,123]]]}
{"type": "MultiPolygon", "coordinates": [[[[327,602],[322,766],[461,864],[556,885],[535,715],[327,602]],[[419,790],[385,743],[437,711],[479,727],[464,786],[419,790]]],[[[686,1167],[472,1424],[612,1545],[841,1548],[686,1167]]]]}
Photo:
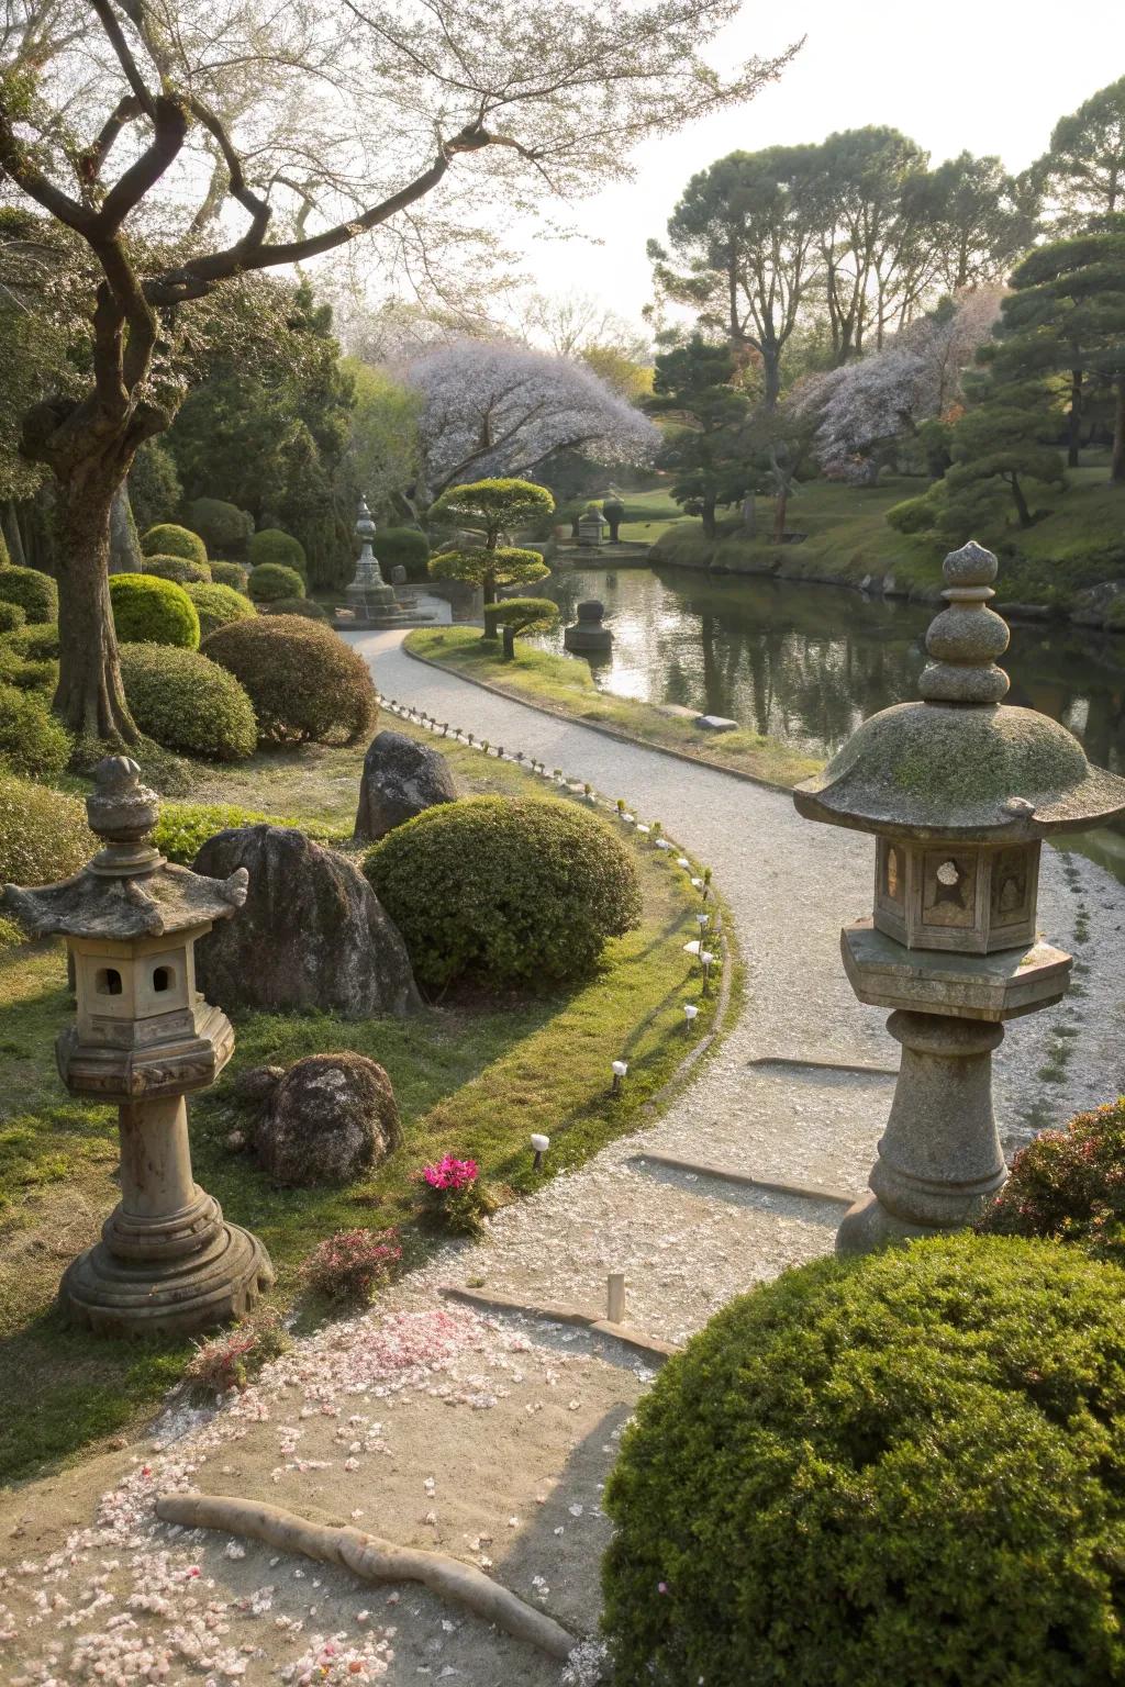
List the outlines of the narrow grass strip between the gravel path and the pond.
{"type": "Polygon", "coordinates": [[[487,680],[508,695],[540,703],[553,714],[609,725],[641,742],[680,751],[710,766],[749,773],[769,784],[793,786],[820,768],[818,761],[746,727],[708,732],[656,703],[599,692],[589,663],[580,658],[557,656],[516,641],[514,660],[504,661],[499,646],[482,639],[479,628],[417,628],[406,636],[406,649],[467,678],[487,680]]]}

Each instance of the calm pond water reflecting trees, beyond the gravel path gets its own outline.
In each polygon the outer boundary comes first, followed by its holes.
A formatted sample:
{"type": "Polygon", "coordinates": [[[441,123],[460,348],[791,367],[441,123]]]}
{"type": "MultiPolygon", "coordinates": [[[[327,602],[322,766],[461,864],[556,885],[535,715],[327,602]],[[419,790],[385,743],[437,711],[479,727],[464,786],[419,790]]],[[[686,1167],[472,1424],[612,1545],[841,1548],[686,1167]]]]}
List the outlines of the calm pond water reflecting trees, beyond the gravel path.
{"type": "MultiPolygon", "coordinates": [[[[830,756],[867,715],[918,697],[934,611],[806,585],[688,569],[570,569],[546,582],[575,619],[584,597],[606,604],[614,649],[599,687],[681,703],[808,752],[830,756]]],[[[538,639],[562,649],[562,629],[538,639]]],[[[1009,703],[1063,720],[1091,761],[1125,773],[1125,636],[1017,623],[1002,666],[1009,703]]],[[[1125,879],[1125,827],[1074,840],[1125,879]]]]}

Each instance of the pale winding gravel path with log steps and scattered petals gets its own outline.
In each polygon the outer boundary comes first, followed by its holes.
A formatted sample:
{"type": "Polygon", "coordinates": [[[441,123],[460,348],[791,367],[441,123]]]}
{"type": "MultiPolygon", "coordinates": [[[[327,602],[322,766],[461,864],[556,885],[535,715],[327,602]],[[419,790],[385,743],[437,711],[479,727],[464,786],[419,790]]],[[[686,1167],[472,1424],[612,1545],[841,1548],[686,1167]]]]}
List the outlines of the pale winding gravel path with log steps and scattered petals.
{"type": "MultiPolygon", "coordinates": [[[[371,1586],[341,1564],[354,1554],[378,1572],[388,1544],[413,1569],[435,1554],[552,1620],[552,1645],[558,1631],[592,1635],[609,1539],[602,1485],[638,1397],[724,1301],[828,1252],[840,1201],[864,1188],[891,1075],[884,1016],[855,1002],[838,930],[870,903],[867,840],[803,823],[784,793],[415,663],[400,639],[353,638],[385,697],[562,768],[611,805],[624,798],[713,869],[746,1004],[661,1118],[504,1208],[486,1240],[450,1243],[369,1314],[322,1326],[218,1415],[180,1410],[153,1444],[30,1483],[0,1506],[3,1687],[592,1687],[595,1648],[563,1674],[550,1648],[455,1596],[371,1586]],[[278,1508],[273,1539],[290,1530],[312,1555],[228,1533],[236,1513],[223,1506],[197,1513],[218,1530],[160,1525],[159,1493],[248,1501],[270,1528],[278,1508]]],[[[1125,891],[1051,850],[1042,881],[1041,921],[1056,941],[1071,946],[1091,916],[1078,941],[1088,994],[1066,1009],[1074,1058],[1061,1083],[1037,1076],[1056,1014],[1012,1027],[997,1113],[1015,1139],[1032,1107],[1036,1124],[1061,1122],[1122,1080],[1113,945],[1125,891]]],[[[686,1058],[698,1039],[690,1024],[676,1034],[686,1058]]],[[[607,1088],[621,1054],[606,1049],[607,1088]]]]}

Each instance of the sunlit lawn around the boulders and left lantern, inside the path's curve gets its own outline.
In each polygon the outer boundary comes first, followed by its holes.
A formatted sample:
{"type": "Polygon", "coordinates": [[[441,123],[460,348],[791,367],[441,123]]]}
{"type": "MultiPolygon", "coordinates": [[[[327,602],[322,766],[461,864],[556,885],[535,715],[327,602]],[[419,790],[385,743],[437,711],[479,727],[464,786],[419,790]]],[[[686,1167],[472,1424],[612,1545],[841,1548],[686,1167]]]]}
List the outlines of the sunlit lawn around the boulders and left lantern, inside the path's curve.
{"type": "MultiPolygon", "coordinates": [[[[508,763],[455,744],[444,749],[467,791],[543,790],[508,763]]],[[[361,749],[305,749],[290,763],[292,779],[285,757],[255,757],[256,766],[206,774],[192,795],[347,823],[361,757],[361,749]]],[[[410,1225],[412,1174],[432,1156],[472,1154],[491,1178],[526,1191],[641,1122],[643,1105],[690,1046],[681,1002],[698,997],[698,984],[681,951],[697,906],[686,876],[656,850],[639,862],[643,928],[611,943],[600,973],[568,994],[439,1007],[410,1021],[251,1014],[236,1022],[228,1078],[260,1061],[358,1049],[386,1066],[405,1125],[405,1149],[373,1178],[342,1189],[280,1189],[248,1157],[224,1149],[238,1122],[228,1080],[196,1098],[196,1174],[229,1218],[266,1242],[280,1304],[292,1301],[300,1259],[320,1237],[354,1225],[410,1225]],[[609,1061],[619,1054],[629,1059],[629,1081],[611,1100],[609,1061]],[[552,1137],[540,1176],[531,1171],[531,1130],[552,1137]]],[[[189,1348],[96,1341],[61,1326],[52,1297],[62,1267],[94,1240],[116,1199],[115,1113],[71,1102],[54,1075],[52,1041],[71,1014],[57,945],[2,955],[0,1000],[0,1479],[12,1479],[138,1429],[189,1348]]],[[[700,1009],[695,1036],[713,999],[700,1009]]],[[[412,1253],[427,1245],[408,1232],[412,1253]]]]}

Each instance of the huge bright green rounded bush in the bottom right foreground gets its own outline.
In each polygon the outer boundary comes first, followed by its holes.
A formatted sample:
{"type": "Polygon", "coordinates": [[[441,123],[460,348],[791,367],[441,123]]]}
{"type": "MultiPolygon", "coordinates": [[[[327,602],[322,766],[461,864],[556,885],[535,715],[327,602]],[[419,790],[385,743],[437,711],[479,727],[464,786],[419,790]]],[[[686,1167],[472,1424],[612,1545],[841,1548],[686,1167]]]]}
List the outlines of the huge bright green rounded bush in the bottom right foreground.
{"type": "Polygon", "coordinates": [[[1125,1682],[1125,1306],[1042,1242],[818,1260],[727,1306],[606,1493],[614,1682],[1125,1682]]]}

